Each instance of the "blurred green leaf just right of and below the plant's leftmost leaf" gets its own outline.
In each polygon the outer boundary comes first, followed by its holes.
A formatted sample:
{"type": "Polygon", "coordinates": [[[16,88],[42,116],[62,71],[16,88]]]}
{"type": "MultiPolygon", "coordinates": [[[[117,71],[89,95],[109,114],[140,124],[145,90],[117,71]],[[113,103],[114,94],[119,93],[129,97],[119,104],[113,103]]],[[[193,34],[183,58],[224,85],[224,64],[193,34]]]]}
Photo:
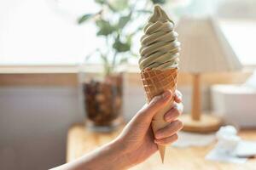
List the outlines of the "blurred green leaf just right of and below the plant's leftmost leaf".
{"type": "Polygon", "coordinates": [[[99,27],[99,31],[97,32],[98,36],[108,36],[116,29],[114,26],[111,26],[107,20],[97,20],[96,26],[99,27]]]}

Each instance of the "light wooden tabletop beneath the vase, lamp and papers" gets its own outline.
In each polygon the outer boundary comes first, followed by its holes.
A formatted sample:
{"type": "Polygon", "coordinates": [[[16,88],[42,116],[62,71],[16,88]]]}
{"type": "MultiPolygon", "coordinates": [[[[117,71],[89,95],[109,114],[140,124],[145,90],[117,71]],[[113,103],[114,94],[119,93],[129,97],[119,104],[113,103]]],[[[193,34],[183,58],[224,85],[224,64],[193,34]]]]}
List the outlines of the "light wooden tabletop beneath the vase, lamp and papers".
{"type": "MultiPolygon", "coordinates": [[[[84,153],[96,149],[96,147],[111,141],[120,132],[113,133],[91,133],[87,131],[83,124],[71,127],[67,135],[67,161],[73,161],[84,153]]],[[[256,130],[241,131],[242,139],[256,141],[256,130]]],[[[237,169],[256,170],[256,159],[250,159],[245,164],[220,163],[216,161],[206,161],[204,157],[212,149],[214,144],[207,147],[189,147],[185,149],[169,147],[166,151],[165,164],[160,163],[159,153],[151,156],[147,161],[133,170],[217,170],[217,169],[237,169]]]]}

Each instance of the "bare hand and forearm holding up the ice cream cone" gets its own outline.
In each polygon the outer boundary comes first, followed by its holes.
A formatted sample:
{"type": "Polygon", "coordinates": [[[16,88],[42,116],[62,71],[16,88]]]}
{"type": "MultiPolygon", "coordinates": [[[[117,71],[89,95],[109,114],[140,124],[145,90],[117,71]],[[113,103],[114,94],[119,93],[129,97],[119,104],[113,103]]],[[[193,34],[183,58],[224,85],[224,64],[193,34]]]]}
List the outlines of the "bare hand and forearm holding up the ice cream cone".
{"type": "MultiPolygon", "coordinates": [[[[177,140],[177,132],[182,129],[183,123],[177,120],[181,111],[177,104],[165,114],[166,127],[155,134],[151,128],[153,116],[170,104],[172,92],[154,97],[148,105],[137,112],[131,121],[125,126],[122,133],[111,143],[105,144],[97,150],[80,157],[76,161],[69,162],[55,170],[120,170],[133,167],[153,155],[158,149],[157,144],[172,144],[177,140]]],[[[176,103],[181,103],[182,96],[179,92],[174,95],[176,103]]]]}

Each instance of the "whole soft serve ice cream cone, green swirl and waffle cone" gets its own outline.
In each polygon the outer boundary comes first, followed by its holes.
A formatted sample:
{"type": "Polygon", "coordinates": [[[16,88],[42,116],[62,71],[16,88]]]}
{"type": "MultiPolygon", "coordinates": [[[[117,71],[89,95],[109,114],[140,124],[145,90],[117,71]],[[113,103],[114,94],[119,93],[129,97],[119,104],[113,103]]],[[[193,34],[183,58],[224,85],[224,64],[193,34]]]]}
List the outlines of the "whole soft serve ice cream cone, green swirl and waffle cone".
{"type": "MultiPolygon", "coordinates": [[[[158,5],[154,7],[154,14],[144,28],[141,44],[139,67],[148,102],[166,90],[171,90],[174,94],[177,87],[180,42],[177,42],[174,22],[158,5]]],[[[171,109],[172,103],[173,99],[170,105],[154,116],[152,121],[154,132],[168,124],[164,120],[164,115],[171,109]]],[[[158,148],[162,162],[164,162],[166,147],[159,144],[158,148]]]]}

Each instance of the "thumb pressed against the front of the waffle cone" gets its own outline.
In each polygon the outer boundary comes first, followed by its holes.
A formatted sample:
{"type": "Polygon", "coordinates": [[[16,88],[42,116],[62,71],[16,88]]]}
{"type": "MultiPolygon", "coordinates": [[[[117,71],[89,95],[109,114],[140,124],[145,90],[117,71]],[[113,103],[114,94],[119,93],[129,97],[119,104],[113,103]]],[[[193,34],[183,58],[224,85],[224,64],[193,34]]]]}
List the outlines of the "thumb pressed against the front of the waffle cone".
{"type": "Polygon", "coordinates": [[[137,118],[142,121],[148,120],[151,122],[153,116],[166,105],[168,105],[171,99],[172,92],[170,90],[155,96],[148,105],[144,106],[143,109],[139,111],[139,116],[137,118]]]}

